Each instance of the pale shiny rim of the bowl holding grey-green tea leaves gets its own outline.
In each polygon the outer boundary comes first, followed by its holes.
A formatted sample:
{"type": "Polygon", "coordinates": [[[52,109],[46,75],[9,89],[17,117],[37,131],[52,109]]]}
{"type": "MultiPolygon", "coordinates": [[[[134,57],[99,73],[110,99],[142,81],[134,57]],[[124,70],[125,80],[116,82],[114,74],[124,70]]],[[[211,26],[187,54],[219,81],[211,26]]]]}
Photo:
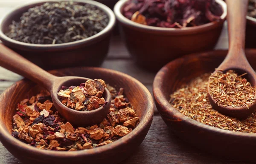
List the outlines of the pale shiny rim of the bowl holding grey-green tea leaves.
{"type": "Polygon", "coordinates": [[[11,20],[12,18],[10,18],[10,16],[17,12],[15,15],[19,15],[22,14],[19,10],[21,8],[31,8],[31,7],[35,7],[38,5],[41,5],[42,3],[47,3],[47,2],[60,2],[60,1],[68,1],[68,0],[39,0],[36,2],[32,2],[32,3],[26,3],[24,5],[20,5],[17,6],[16,8],[14,8],[12,11],[9,11],[9,13],[7,13],[3,19],[0,20],[0,40],[2,40],[2,42],[6,45],[10,45],[13,48],[17,48],[16,46],[20,46],[21,48],[29,48],[29,49],[36,49],[36,50],[57,50],[57,49],[62,49],[62,48],[73,48],[73,47],[79,47],[81,45],[88,45],[88,44],[92,44],[93,42],[97,42],[98,40],[102,40],[103,38],[105,38],[113,29],[115,23],[116,23],[116,17],[113,13],[113,11],[108,7],[105,6],[102,3],[93,1],[93,0],[73,0],[74,3],[80,3],[80,4],[92,4],[98,8],[100,8],[102,11],[104,11],[108,17],[109,17],[109,22],[108,25],[99,33],[82,39],[82,40],[77,40],[74,42],[67,42],[67,43],[61,43],[61,44],[31,44],[31,43],[25,43],[25,42],[20,42],[17,40],[13,40],[9,37],[7,37],[2,29],[5,26],[5,24],[3,24],[4,22],[6,22],[7,20],[11,20]],[[19,11],[19,12],[18,12],[19,11]]]}

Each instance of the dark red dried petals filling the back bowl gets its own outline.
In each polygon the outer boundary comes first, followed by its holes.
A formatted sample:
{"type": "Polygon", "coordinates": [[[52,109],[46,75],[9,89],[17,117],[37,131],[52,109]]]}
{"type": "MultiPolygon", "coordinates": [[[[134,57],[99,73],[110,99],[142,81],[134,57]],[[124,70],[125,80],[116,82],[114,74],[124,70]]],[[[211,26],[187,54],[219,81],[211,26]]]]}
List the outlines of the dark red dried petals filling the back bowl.
{"type": "Polygon", "coordinates": [[[223,10],[215,0],[129,0],[122,13],[143,25],[183,28],[218,21],[223,10]]]}

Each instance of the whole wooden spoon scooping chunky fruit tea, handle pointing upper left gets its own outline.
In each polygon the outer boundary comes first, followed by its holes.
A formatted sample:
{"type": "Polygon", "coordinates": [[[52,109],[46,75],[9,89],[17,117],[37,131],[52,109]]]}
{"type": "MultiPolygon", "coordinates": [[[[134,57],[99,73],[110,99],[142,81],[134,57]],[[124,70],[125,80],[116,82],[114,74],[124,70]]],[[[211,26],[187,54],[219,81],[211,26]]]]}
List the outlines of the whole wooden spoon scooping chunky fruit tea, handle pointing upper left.
{"type": "Polygon", "coordinates": [[[88,78],[77,76],[54,76],[2,44],[0,44],[0,66],[44,86],[44,88],[51,93],[52,102],[58,112],[72,124],[77,126],[99,124],[109,112],[111,105],[111,94],[107,88],[105,88],[103,93],[103,97],[107,103],[102,107],[91,111],[77,111],[70,109],[63,105],[58,99],[57,93],[59,90],[61,90],[63,85],[79,85],[80,83],[90,80],[88,78]]]}

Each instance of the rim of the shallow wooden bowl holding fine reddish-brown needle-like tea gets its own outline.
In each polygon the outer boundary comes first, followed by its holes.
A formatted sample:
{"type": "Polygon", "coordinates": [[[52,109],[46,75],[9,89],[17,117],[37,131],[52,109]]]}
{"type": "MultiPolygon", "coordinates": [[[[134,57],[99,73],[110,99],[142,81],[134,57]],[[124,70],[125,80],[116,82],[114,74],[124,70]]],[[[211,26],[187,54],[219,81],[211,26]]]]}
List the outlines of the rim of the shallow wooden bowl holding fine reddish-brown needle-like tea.
{"type": "MultiPolygon", "coordinates": [[[[166,99],[164,96],[164,93],[161,91],[163,83],[161,82],[161,79],[166,77],[165,71],[169,69],[172,65],[177,65],[177,63],[183,63],[183,61],[189,61],[189,59],[192,58],[200,58],[203,57],[204,54],[208,54],[210,52],[226,52],[227,50],[212,50],[212,51],[204,51],[204,52],[198,52],[198,53],[193,53],[186,55],[184,57],[180,57],[178,59],[173,60],[172,62],[169,62],[165,66],[163,66],[160,71],[157,72],[156,76],[154,77],[154,82],[153,82],[153,96],[154,96],[154,102],[157,105],[161,105],[161,107],[158,107],[157,110],[163,117],[163,119],[167,118],[166,116],[175,116],[177,119],[182,120],[185,122],[185,124],[192,125],[193,127],[198,127],[204,130],[209,130],[211,133],[219,133],[222,135],[228,135],[228,136],[236,136],[236,137],[243,137],[245,138],[255,138],[256,139],[256,134],[255,133],[242,133],[242,132],[233,132],[230,130],[224,130],[216,127],[212,127],[207,124],[203,124],[201,122],[197,122],[196,120],[193,120],[182,113],[180,113],[178,110],[176,110],[172,105],[169,103],[169,100],[166,99]]],[[[247,50],[250,52],[254,52],[256,54],[256,49],[250,49],[247,50]]],[[[245,51],[246,52],[246,51],[245,51]]],[[[213,56],[213,55],[212,55],[213,56]]],[[[180,65],[180,64],[178,64],[180,65]]]]}

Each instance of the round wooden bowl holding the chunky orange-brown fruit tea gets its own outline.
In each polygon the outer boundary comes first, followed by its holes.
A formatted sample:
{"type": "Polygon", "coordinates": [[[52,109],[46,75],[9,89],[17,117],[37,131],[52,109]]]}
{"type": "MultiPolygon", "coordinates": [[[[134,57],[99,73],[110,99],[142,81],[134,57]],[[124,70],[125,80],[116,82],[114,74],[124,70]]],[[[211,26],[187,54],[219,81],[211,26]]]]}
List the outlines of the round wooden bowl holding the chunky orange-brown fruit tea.
{"type": "Polygon", "coordinates": [[[89,150],[58,152],[40,150],[15,139],[11,136],[12,116],[17,103],[39,92],[40,87],[23,79],[0,95],[0,141],[12,155],[24,163],[51,164],[113,164],[128,158],[141,144],[148,133],[154,115],[154,102],[145,86],[131,76],[105,68],[66,68],[51,71],[57,76],[83,76],[104,79],[116,88],[124,88],[125,95],[136,109],[140,123],[128,135],[111,144],[89,150]]]}

